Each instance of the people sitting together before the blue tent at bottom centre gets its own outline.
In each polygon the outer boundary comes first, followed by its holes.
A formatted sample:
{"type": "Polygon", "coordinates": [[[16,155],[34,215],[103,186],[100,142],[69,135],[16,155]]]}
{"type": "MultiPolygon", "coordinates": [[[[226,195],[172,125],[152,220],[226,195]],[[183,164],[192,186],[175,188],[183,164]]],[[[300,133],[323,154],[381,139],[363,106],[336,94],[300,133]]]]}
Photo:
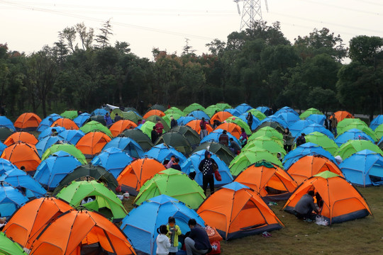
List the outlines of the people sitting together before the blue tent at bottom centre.
{"type": "Polygon", "coordinates": [[[179,242],[184,244],[187,255],[209,253],[211,251],[211,244],[204,227],[198,225],[195,219],[190,219],[188,225],[190,231],[183,235],[181,229],[176,224],[175,218],[169,217],[167,225],[161,225],[157,229],[156,254],[175,255],[179,249],[179,242]]]}

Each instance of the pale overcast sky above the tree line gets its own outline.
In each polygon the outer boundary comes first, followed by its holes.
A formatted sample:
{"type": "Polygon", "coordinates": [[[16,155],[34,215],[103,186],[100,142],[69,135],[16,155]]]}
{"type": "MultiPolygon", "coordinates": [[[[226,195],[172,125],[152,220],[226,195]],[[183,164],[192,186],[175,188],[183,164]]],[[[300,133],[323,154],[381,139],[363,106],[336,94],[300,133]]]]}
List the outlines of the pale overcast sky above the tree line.
{"type": "MultiPolygon", "coordinates": [[[[355,35],[383,37],[381,0],[270,0],[268,6],[267,13],[262,1],[263,19],[280,21],[291,41],[323,27],[340,34],[347,45],[355,35]]],[[[30,53],[52,45],[67,26],[84,22],[96,29],[109,18],[111,41],[129,42],[133,53],[150,59],[153,47],[182,52],[184,38],[197,54],[207,52],[206,43],[226,40],[240,27],[231,0],[0,0],[0,43],[30,53]]]]}

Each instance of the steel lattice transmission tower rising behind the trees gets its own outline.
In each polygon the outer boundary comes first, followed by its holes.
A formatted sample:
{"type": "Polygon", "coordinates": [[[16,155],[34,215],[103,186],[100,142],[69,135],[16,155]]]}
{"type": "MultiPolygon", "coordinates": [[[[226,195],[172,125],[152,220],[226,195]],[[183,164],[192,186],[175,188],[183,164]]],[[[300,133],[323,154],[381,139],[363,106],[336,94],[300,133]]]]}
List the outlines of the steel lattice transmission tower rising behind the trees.
{"type": "MultiPolygon", "coordinates": [[[[234,0],[237,3],[238,13],[240,14],[239,2],[243,1],[242,18],[240,21],[240,30],[245,28],[252,28],[255,22],[263,21],[261,0],[234,0]]],[[[265,6],[267,12],[269,12],[269,6],[267,6],[267,0],[265,0],[265,6]]]]}

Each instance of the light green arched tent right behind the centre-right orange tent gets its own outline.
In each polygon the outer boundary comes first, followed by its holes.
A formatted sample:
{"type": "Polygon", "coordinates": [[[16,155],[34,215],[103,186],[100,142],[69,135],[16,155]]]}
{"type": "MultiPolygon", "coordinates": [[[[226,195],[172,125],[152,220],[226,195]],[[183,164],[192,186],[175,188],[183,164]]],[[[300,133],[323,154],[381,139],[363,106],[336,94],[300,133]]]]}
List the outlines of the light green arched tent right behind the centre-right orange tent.
{"type": "Polygon", "coordinates": [[[229,165],[230,172],[233,176],[238,176],[238,174],[247,169],[248,166],[262,160],[282,167],[282,162],[280,162],[277,157],[273,156],[270,152],[241,152],[229,165]]]}

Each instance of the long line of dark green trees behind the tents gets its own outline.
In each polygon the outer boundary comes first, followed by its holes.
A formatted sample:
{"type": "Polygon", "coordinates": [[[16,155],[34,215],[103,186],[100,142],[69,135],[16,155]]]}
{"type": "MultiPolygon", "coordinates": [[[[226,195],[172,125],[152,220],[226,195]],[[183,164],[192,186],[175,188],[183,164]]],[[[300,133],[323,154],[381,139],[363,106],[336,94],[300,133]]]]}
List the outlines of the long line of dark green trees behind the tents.
{"type": "Polygon", "coordinates": [[[340,35],[322,28],[290,42],[278,22],[261,22],[209,42],[207,53],[197,55],[186,40],[182,53],[153,48],[149,60],[128,42],[111,42],[111,35],[110,21],[97,31],[79,23],[29,55],[0,44],[8,114],[221,101],[368,115],[383,110],[383,38],[377,36],[356,36],[345,47],[340,35]]]}

